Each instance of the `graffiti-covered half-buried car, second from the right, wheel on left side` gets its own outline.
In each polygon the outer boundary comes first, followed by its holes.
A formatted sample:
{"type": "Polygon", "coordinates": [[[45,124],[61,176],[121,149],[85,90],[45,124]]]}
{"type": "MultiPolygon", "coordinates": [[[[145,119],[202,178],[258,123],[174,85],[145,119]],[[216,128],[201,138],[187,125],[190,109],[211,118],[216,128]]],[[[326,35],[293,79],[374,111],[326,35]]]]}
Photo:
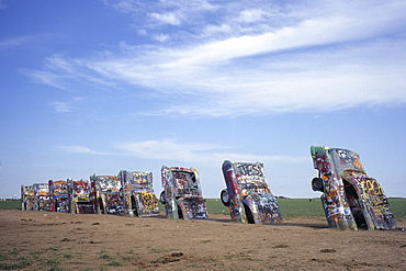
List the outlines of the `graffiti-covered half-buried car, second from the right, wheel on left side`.
{"type": "Polygon", "coordinates": [[[250,224],[283,222],[278,201],[267,182],[262,162],[223,162],[227,189],[221,192],[233,221],[250,224]]]}

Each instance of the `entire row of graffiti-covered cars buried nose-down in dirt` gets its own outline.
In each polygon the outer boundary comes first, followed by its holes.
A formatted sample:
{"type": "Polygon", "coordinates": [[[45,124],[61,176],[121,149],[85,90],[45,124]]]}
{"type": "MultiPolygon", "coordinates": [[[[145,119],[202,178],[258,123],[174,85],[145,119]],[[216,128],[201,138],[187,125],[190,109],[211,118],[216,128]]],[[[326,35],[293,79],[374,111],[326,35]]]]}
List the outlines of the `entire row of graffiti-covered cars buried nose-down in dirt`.
{"type": "MultiPolygon", "coordinates": [[[[312,146],[311,154],[318,176],[314,191],[322,192],[322,203],[329,227],[350,229],[393,229],[396,227],[388,201],[377,181],[363,169],[359,155],[341,148],[312,146]]],[[[283,222],[267,181],[262,162],[232,162],[222,166],[226,189],[221,201],[230,218],[251,224],[283,222]]],[[[48,181],[22,185],[22,208],[80,214],[125,214],[158,216],[158,201],[165,204],[168,218],[205,219],[199,171],[162,167],[163,191],[159,199],[150,172],[122,170],[116,176],[91,176],[90,181],[48,181]]]]}

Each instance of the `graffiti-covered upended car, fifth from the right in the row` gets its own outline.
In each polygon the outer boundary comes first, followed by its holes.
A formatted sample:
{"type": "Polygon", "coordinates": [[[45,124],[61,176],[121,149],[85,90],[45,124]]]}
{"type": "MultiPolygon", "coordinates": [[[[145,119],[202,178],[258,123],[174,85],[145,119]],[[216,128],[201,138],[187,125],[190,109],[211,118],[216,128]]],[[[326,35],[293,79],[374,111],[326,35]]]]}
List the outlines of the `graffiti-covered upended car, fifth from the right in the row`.
{"type": "Polygon", "coordinates": [[[93,205],[99,214],[124,214],[123,191],[117,176],[91,176],[93,205]]]}

